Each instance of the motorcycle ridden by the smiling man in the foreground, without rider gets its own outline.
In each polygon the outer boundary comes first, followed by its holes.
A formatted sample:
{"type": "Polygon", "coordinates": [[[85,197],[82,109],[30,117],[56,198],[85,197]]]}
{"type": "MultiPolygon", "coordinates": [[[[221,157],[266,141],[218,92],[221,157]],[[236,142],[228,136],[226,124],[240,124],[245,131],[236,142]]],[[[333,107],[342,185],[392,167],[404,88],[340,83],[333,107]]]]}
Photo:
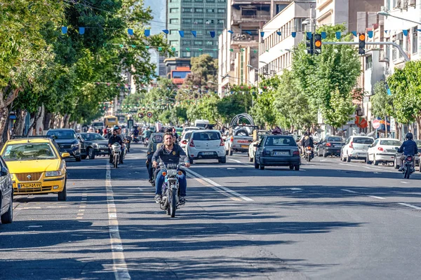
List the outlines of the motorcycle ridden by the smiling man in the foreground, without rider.
{"type": "Polygon", "coordinates": [[[162,173],[165,176],[165,181],[162,185],[162,201],[159,202],[159,207],[162,210],[167,212],[167,215],[171,215],[171,218],[175,217],[175,209],[177,209],[179,204],[180,189],[178,186],[178,176],[181,176],[183,173],[180,170],[180,166],[177,164],[160,164],[161,169],[166,169],[162,173]]]}

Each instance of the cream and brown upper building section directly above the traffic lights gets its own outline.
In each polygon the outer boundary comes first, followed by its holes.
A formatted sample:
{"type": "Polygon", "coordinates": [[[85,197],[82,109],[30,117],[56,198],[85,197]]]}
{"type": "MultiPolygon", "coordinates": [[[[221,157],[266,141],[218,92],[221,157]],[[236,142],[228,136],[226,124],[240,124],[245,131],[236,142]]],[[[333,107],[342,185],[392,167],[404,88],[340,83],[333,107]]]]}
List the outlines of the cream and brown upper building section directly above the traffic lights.
{"type": "Polygon", "coordinates": [[[385,0],[317,0],[316,25],[345,24],[347,31],[356,30],[357,12],[377,12],[385,0]]]}

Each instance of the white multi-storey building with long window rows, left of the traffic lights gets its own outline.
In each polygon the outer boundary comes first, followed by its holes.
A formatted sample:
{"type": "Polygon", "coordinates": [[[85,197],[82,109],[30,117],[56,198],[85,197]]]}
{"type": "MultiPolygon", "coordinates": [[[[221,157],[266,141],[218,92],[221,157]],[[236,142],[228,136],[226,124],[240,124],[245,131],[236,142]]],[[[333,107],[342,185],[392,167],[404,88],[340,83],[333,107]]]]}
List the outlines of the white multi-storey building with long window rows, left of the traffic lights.
{"type": "Polygon", "coordinates": [[[265,36],[259,48],[259,73],[273,76],[290,69],[290,50],[303,40],[305,25],[316,0],[296,0],[284,8],[262,28],[265,36]],[[294,35],[293,35],[294,34],[294,35]]]}

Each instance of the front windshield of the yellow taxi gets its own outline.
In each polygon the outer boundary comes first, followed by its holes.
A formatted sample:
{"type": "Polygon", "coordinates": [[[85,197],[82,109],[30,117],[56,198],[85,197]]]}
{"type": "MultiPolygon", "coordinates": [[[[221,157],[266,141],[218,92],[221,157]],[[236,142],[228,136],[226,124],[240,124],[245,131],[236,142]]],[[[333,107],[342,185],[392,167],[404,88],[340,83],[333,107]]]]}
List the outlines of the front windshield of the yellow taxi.
{"type": "Polygon", "coordinates": [[[57,158],[48,143],[9,144],[1,155],[6,161],[13,160],[53,160],[57,158]]]}

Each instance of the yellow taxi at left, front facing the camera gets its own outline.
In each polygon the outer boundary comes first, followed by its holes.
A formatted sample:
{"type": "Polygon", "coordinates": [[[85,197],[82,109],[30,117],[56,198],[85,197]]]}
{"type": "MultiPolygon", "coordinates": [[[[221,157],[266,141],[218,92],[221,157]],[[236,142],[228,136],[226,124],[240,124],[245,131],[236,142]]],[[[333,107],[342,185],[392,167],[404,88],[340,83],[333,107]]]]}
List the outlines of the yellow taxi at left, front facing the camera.
{"type": "Polygon", "coordinates": [[[58,193],[58,200],[67,200],[67,171],[64,158],[69,153],[60,149],[50,138],[28,137],[4,144],[1,156],[13,174],[14,195],[58,193]]]}

